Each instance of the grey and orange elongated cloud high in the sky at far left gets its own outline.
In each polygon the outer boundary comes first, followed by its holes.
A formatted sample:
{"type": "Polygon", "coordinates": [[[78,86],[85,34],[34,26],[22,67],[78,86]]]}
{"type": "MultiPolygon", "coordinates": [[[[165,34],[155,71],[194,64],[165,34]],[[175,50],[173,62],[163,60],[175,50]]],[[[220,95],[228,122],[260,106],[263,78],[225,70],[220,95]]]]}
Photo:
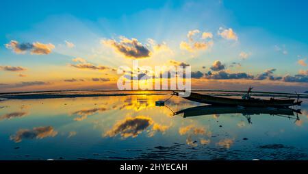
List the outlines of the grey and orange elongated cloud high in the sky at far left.
{"type": "Polygon", "coordinates": [[[5,47],[8,49],[12,49],[15,53],[25,53],[26,51],[30,51],[31,54],[49,54],[52,49],[55,48],[51,43],[42,44],[40,42],[34,43],[19,43],[16,40],[11,40],[10,43],[5,44],[5,47]]]}

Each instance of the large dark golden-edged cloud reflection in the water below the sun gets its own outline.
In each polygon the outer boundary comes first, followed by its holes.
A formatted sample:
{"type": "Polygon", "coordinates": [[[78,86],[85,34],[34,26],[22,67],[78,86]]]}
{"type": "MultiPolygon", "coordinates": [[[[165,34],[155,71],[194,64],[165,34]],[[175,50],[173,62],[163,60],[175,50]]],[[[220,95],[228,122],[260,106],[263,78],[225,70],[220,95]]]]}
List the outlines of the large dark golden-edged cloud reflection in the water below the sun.
{"type": "Polygon", "coordinates": [[[147,116],[127,117],[123,121],[118,121],[105,136],[114,137],[120,134],[123,138],[135,138],[152,124],[152,119],[147,116]]]}

